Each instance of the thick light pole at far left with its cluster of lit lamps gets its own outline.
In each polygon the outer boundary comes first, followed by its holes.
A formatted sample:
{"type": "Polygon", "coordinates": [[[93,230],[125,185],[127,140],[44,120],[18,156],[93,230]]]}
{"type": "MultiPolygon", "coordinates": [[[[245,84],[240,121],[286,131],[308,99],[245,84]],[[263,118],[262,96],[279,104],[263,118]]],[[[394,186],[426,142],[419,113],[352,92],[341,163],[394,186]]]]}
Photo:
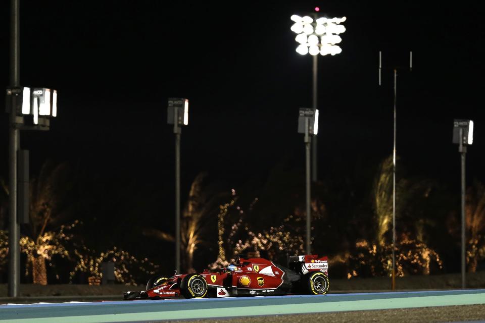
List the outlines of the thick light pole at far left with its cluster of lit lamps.
{"type": "Polygon", "coordinates": [[[57,116],[57,91],[20,86],[20,3],[10,1],[10,86],[6,112],[9,116],[9,288],[8,296],[20,291],[20,224],[28,222],[28,151],[20,150],[20,130],[49,130],[50,117],[57,116]],[[52,96],[51,96],[52,92],[52,96]],[[20,157],[20,158],[18,158],[20,157]],[[20,189],[18,164],[22,166],[20,189]],[[18,208],[21,212],[18,212],[18,208]]]}

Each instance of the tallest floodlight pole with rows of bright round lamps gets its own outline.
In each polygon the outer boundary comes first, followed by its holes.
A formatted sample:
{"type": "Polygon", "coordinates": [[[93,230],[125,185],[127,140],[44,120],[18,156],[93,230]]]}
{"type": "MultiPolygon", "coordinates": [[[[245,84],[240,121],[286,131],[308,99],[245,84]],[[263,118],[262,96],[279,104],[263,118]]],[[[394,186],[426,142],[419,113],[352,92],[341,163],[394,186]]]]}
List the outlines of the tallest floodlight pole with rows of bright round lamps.
{"type": "MultiPolygon", "coordinates": [[[[318,12],[320,9],[317,7],[315,11],[318,12]]],[[[292,31],[297,33],[295,40],[300,43],[297,47],[297,52],[301,55],[306,55],[310,53],[313,56],[313,67],[312,67],[312,108],[315,110],[318,108],[317,104],[317,93],[318,93],[318,54],[325,55],[336,55],[342,52],[342,48],[337,43],[342,41],[342,38],[338,34],[345,32],[344,25],[340,23],[346,21],[346,17],[342,18],[318,18],[317,14],[314,13],[313,18],[310,16],[300,17],[298,15],[293,15],[291,19],[295,22],[292,26],[292,31]]],[[[313,155],[312,155],[312,181],[317,180],[317,137],[313,138],[312,143],[313,155]]]]}

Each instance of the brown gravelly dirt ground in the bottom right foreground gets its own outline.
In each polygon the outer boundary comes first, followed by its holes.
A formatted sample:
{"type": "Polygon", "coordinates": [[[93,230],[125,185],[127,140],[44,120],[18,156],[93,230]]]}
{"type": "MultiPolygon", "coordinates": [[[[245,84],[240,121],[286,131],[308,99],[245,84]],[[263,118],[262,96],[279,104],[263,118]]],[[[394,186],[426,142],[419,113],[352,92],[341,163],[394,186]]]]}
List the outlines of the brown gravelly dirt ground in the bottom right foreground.
{"type": "MultiPolygon", "coordinates": [[[[308,322],[456,322],[456,321],[485,320],[485,305],[463,305],[423,307],[406,309],[386,309],[351,312],[331,312],[317,314],[274,315],[256,317],[238,317],[227,319],[196,319],[183,320],[183,323],[308,323],[308,322]]],[[[176,320],[163,321],[178,322],[176,320]]]]}

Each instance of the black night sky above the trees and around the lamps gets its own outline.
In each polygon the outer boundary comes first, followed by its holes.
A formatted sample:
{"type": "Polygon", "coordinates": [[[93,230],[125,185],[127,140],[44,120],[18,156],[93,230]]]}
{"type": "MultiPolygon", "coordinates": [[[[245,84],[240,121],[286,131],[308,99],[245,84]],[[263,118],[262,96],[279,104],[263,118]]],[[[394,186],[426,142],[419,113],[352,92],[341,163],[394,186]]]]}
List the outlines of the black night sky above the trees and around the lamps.
{"type": "MultiPolygon", "coordinates": [[[[0,6],[5,88],[9,2],[0,6]]],[[[377,165],[392,153],[393,72],[384,70],[379,87],[379,50],[385,68],[407,66],[413,51],[413,71],[398,76],[398,176],[437,180],[458,198],[452,127],[464,118],[475,123],[467,181],[485,181],[485,12],[478,2],[410,1],[22,0],[21,85],[59,93],[51,130],[21,134],[31,176],[46,159],[67,162],[99,201],[93,214],[115,222],[144,213],[157,226],[173,223],[174,136],[166,106],[168,97],[185,97],[182,203],[201,171],[255,196],[275,169],[301,176],[303,188],[297,120],[298,108],[311,105],[312,60],[295,51],[289,18],[315,6],[322,15],[347,17],[342,53],[319,57],[319,179],[333,194],[360,190],[366,198],[377,165]],[[347,184],[331,184],[339,182],[347,184]]],[[[7,115],[0,118],[0,176],[7,179],[7,115]]]]}

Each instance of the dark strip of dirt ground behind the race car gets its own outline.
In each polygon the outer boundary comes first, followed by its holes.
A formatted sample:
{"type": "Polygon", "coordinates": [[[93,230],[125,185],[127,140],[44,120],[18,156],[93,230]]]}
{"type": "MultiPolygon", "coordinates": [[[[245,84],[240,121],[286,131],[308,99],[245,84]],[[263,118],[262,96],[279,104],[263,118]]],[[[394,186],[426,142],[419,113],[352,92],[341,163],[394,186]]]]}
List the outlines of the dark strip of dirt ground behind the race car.
{"type": "MultiPolygon", "coordinates": [[[[397,290],[429,290],[429,289],[459,289],[461,288],[460,274],[409,276],[396,280],[397,290]]],[[[467,274],[467,288],[485,288],[485,271],[467,274]]],[[[144,285],[125,286],[122,284],[89,286],[89,285],[33,285],[22,284],[21,297],[39,296],[76,296],[76,295],[123,295],[125,291],[140,291],[144,285]]],[[[391,279],[352,278],[331,279],[329,293],[359,292],[359,291],[386,291],[391,289],[391,279]]],[[[0,297],[7,296],[7,284],[0,284],[0,297]]]]}

